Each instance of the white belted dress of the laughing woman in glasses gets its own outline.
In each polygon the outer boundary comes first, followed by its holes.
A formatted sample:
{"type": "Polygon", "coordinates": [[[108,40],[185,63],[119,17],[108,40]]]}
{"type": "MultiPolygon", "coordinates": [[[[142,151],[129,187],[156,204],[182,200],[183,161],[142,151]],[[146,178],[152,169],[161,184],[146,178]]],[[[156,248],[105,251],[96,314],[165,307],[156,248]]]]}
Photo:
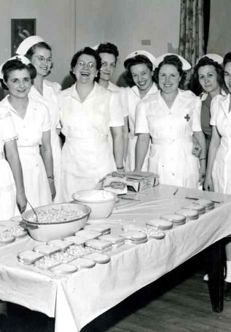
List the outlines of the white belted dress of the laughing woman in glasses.
{"type": "Polygon", "coordinates": [[[123,113],[113,92],[95,83],[82,103],[76,86],[60,93],[60,120],[65,143],[61,158],[64,200],[80,190],[94,189],[107,173],[116,170],[108,142],[110,127],[123,126],[123,113]]]}

